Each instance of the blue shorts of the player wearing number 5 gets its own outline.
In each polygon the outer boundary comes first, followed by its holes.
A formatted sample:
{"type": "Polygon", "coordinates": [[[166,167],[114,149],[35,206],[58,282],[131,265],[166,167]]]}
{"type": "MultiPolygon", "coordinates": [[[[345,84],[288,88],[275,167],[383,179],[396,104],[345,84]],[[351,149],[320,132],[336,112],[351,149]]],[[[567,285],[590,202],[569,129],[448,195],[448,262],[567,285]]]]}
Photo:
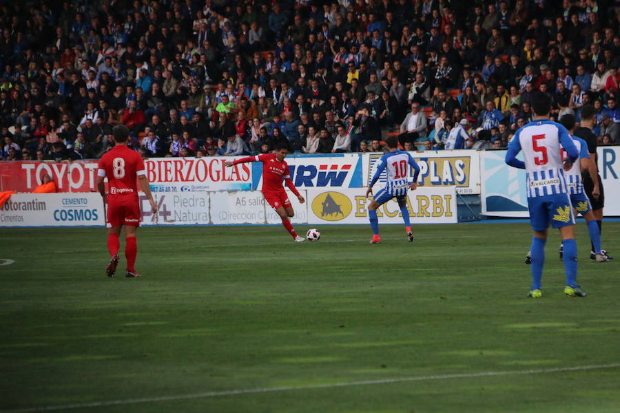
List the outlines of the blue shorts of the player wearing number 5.
{"type": "Polygon", "coordinates": [[[551,225],[553,228],[575,225],[568,193],[543,195],[528,198],[530,224],[534,231],[544,231],[551,225]]]}

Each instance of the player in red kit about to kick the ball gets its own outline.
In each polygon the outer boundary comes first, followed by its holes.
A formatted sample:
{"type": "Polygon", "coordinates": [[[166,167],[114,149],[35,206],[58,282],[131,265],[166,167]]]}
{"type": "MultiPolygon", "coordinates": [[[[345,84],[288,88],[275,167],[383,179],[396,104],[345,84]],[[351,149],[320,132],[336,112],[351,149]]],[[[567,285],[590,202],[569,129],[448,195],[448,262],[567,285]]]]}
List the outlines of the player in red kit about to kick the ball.
{"type": "Polygon", "coordinates": [[[280,218],[282,218],[282,225],[284,225],[287,231],[293,236],[293,240],[302,242],[306,239],[297,235],[289,219],[295,215],[295,211],[293,211],[289,196],[284,187],[282,187],[282,179],[284,179],[287,187],[297,195],[297,199],[300,203],[303,204],[306,200],[300,195],[291,180],[289,165],[284,160],[287,157],[287,153],[288,147],[279,145],[276,148],[276,153],[262,153],[256,156],[236,159],[234,162],[227,161],[225,165],[231,167],[232,165],[243,162],[262,162],[262,195],[265,196],[265,200],[271,205],[271,208],[275,209],[278,215],[280,215],[280,218]]]}

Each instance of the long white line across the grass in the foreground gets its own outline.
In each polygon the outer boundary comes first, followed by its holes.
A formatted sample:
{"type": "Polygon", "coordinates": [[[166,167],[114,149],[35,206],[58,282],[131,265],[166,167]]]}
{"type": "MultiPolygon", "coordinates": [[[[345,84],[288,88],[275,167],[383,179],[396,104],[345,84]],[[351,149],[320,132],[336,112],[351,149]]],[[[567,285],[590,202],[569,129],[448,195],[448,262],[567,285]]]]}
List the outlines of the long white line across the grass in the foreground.
{"type": "Polygon", "coordinates": [[[284,387],[276,387],[276,388],[251,388],[251,389],[238,389],[238,390],[223,390],[220,392],[203,392],[203,393],[193,393],[193,394],[176,394],[172,396],[141,397],[138,399],[93,401],[90,403],[75,403],[75,404],[68,404],[68,405],[28,407],[25,409],[2,410],[2,411],[11,412],[11,413],[49,412],[50,410],[84,409],[87,407],[105,407],[105,406],[114,406],[114,405],[128,405],[128,404],[135,404],[135,403],[153,403],[156,401],[207,399],[209,397],[236,396],[239,394],[277,393],[277,392],[291,392],[295,390],[347,388],[347,387],[354,387],[358,385],[405,383],[409,381],[472,379],[475,377],[498,377],[498,376],[513,376],[513,375],[523,375],[523,374],[548,374],[548,373],[561,373],[561,372],[577,372],[577,371],[584,371],[584,370],[603,370],[603,369],[608,369],[608,368],[620,368],[620,363],[593,364],[590,366],[575,366],[575,367],[541,368],[537,370],[513,370],[513,371],[499,371],[499,372],[456,373],[456,374],[437,374],[437,375],[431,375],[431,376],[394,377],[392,379],[345,381],[342,383],[284,386],[284,387]]]}

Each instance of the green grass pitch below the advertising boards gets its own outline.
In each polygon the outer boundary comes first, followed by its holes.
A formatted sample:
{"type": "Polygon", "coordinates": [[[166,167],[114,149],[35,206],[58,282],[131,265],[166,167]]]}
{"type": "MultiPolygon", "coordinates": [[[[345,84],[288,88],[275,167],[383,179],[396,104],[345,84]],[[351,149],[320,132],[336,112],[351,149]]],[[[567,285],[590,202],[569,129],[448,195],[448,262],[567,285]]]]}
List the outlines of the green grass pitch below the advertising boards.
{"type": "Polygon", "coordinates": [[[583,299],[557,231],[534,300],[528,224],[318,229],[141,229],[142,279],[105,277],[104,229],[3,229],[0,410],[620,412],[620,259],[583,222],[583,299]]]}

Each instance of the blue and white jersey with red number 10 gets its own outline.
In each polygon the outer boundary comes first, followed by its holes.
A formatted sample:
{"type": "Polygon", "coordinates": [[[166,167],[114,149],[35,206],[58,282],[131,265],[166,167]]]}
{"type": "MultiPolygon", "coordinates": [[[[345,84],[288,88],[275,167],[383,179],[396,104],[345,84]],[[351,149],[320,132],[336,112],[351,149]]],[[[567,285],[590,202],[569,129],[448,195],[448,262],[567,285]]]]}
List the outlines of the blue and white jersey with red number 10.
{"type": "Polygon", "coordinates": [[[409,177],[409,167],[414,169],[413,180],[417,180],[420,167],[417,166],[409,152],[401,151],[400,149],[388,152],[381,157],[375,176],[373,176],[369,186],[372,187],[385,170],[387,176],[385,191],[394,196],[406,195],[407,187],[409,187],[407,180],[409,177]]]}

